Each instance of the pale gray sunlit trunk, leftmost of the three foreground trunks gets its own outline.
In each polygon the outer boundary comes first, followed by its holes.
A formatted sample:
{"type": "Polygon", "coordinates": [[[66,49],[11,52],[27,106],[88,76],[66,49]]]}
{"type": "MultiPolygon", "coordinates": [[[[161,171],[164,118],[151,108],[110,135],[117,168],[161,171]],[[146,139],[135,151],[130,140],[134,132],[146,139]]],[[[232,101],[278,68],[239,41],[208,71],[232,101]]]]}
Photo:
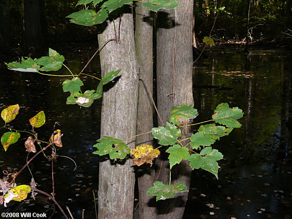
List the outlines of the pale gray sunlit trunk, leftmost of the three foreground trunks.
{"type": "MultiPolygon", "coordinates": [[[[115,19],[116,29],[120,19],[115,19]]],[[[115,38],[112,21],[98,35],[99,46],[115,38]]],[[[102,74],[122,69],[114,85],[105,88],[101,111],[101,136],[126,140],[136,133],[138,101],[138,62],[134,45],[132,13],[121,16],[120,40],[109,42],[100,53],[102,74]],[[108,89],[108,90],[106,90],[108,89]]],[[[116,34],[118,36],[118,33],[116,34]]],[[[128,144],[135,147],[135,139],[128,144]]],[[[99,166],[98,218],[131,219],[133,217],[135,175],[129,159],[110,161],[101,157],[99,166]]]]}

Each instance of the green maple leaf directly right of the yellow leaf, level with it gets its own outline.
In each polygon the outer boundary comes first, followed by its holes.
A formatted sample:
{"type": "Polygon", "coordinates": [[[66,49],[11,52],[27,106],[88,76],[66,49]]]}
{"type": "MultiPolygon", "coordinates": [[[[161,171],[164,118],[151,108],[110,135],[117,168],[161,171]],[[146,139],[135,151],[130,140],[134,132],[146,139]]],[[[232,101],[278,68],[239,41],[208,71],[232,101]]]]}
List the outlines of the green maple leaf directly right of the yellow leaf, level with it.
{"type": "Polygon", "coordinates": [[[170,169],[175,165],[181,163],[182,160],[187,160],[190,156],[190,153],[186,147],[181,147],[179,145],[174,145],[169,147],[166,150],[167,153],[170,153],[168,156],[170,169]]]}

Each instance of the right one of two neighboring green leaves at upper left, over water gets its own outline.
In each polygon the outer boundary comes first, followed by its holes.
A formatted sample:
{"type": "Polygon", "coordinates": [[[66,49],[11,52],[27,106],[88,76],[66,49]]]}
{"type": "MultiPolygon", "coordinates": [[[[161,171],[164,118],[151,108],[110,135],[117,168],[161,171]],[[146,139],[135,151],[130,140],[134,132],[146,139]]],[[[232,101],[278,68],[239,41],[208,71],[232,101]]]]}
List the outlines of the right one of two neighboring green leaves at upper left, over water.
{"type": "Polygon", "coordinates": [[[58,54],[55,50],[49,48],[49,56],[42,56],[35,59],[38,65],[43,65],[40,71],[50,72],[58,71],[62,67],[62,63],[65,61],[63,55],[58,54]]]}

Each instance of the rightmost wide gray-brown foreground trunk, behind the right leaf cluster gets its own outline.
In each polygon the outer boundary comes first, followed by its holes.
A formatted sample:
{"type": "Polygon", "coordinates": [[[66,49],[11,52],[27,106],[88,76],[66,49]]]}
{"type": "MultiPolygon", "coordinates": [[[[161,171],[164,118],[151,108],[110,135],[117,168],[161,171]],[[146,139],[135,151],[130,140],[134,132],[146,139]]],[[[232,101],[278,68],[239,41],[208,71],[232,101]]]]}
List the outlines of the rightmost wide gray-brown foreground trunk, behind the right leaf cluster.
{"type": "MultiPolygon", "coordinates": [[[[163,122],[169,120],[170,109],[181,104],[194,104],[192,92],[192,18],[193,0],[178,0],[183,7],[163,11],[158,15],[157,32],[157,102],[163,122]],[[168,15],[168,16],[167,16],[168,15]]],[[[163,125],[159,122],[159,125],[163,125]]],[[[186,125],[186,124],[180,124],[186,125]]],[[[182,129],[185,139],[192,134],[191,127],[182,129]]],[[[180,140],[179,139],[179,140],[180,140]]],[[[184,141],[188,144],[188,141],[184,141]]],[[[168,154],[156,160],[158,181],[169,182],[169,164],[164,161],[168,154]]],[[[171,169],[171,184],[184,181],[189,187],[191,169],[183,161],[171,169]]],[[[174,199],[160,202],[157,218],[180,219],[187,193],[181,193],[174,199]]]]}

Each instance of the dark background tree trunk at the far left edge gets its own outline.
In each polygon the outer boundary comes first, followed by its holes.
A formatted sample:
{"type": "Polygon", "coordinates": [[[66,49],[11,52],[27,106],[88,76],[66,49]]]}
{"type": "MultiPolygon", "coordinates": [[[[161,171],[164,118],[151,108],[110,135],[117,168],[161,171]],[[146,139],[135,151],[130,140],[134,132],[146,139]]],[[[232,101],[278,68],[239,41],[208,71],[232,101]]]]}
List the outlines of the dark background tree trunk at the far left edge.
{"type": "Polygon", "coordinates": [[[9,0],[0,3],[0,55],[9,54],[9,0]]]}

